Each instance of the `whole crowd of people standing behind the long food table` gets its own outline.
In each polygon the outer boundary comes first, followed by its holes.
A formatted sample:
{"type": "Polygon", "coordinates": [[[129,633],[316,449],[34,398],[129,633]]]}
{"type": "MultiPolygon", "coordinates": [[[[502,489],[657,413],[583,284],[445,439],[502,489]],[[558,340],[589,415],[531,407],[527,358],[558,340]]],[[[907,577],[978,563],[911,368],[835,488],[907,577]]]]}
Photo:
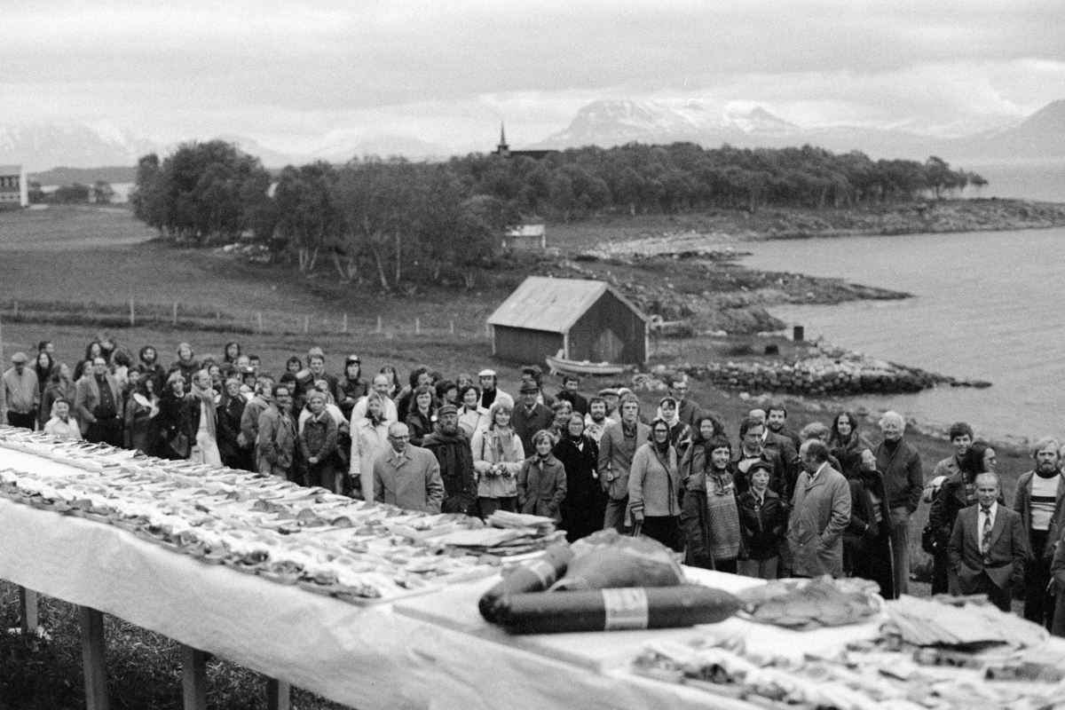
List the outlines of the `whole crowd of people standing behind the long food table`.
{"type": "Polygon", "coordinates": [[[855,576],[885,598],[908,591],[911,535],[933,557],[933,593],[985,594],[1065,635],[1062,446],[1044,439],[1007,508],[994,449],[966,424],[925,484],[896,412],[873,443],[840,412],[793,431],[781,403],[751,410],[734,446],[722,417],[670,378],[654,412],[618,384],[594,395],[563,375],[554,394],[536,365],[517,397],[481,369],[416,367],[402,382],[358,356],[328,371],[321,348],[279,377],[227,343],[197,358],[182,343],[164,366],[152,346],[94,341],[71,369],[42,342],[3,374],[7,424],[325,488],[410,510],[554,519],[571,541],[605,528],[645,534],[687,564],[773,579],[855,576]],[[911,516],[930,505],[929,525],[911,516]],[[1056,612],[1056,613],[1055,613],[1056,612]]]}

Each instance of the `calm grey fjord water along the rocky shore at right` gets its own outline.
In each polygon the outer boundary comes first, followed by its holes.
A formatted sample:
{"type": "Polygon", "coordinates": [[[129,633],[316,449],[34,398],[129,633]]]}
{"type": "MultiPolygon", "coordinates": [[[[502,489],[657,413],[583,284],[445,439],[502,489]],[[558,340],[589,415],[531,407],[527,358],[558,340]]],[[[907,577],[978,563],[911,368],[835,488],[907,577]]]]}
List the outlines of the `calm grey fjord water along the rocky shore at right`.
{"type": "MultiPolygon", "coordinates": [[[[1065,201],[1065,197],[1062,198],[1065,201]]],[[[772,313],[870,356],[983,379],[849,403],[978,433],[1065,434],[1065,229],[748,243],[753,268],[839,277],[913,298],[789,306],[772,313]]],[[[790,328],[789,328],[790,330],[790,328]]]]}

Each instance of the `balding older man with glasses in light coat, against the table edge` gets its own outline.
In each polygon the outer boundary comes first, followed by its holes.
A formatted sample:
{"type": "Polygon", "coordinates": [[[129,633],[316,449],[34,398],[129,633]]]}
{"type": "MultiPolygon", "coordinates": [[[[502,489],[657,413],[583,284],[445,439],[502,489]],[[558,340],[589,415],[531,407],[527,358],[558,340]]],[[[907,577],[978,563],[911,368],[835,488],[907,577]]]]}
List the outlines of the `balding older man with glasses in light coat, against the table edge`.
{"type": "Polygon", "coordinates": [[[374,500],[439,513],[444,482],[437,457],[420,446],[411,446],[410,430],[400,422],[389,427],[389,450],[374,461],[374,500]]]}

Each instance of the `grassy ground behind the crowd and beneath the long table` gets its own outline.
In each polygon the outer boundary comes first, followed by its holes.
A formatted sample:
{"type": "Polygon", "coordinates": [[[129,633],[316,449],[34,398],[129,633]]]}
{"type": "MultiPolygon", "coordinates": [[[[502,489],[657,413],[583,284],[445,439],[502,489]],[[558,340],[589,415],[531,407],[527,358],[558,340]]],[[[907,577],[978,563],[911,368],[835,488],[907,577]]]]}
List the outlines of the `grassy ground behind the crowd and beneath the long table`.
{"type": "MultiPolygon", "coordinates": [[[[632,238],[642,233],[670,229],[662,218],[638,219],[623,229],[611,224],[559,226],[553,234],[574,244],[594,244],[604,238],[632,238]]],[[[678,225],[686,229],[687,224],[678,225]]],[[[175,359],[180,342],[193,344],[199,356],[220,356],[224,344],[239,340],[245,352],[259,354],[268,371],[283,371],[292,354],[306,354],[311,345],[322,346],[329,357],[328,366],[339,371],[344,356],[355,352],[363,360],[366,373],[383,364],[395,366],[402,377],[417,364],[428,364],[446,377],[460,371],[476,374],[481,367],[498,370],[501,386],[518,391],[518,368],[512,363],[496,362],[491,343],[485,336],[485,318],[509,290],[437,291],[415,297],[381,296],[371,288],[359,290],[334,275],[323,271],[307,279],[284,266],[250,264],[213,250],[176,249],[160,242],[145,241],[153,234],[144,230],[128,213],[91,208],[61,208],[44,212],[0,213],[0,323],[2,323],[2,362],[16,349],[32,352],[40,340],[55,342],[60,360],[70,363],[82,357],[85,345],[101,332],[98,324],[71,321],[14,321],[12,304],[21,300],[28,308],[48,310],[48,304],[70,313],[106,310],[121,314],[129,300],[164,309],[177,301],[201,320],[212,313],[225,314],[234,324],[247,324],[251,332],[203,330],[181,325],[178,328],[105,328],[120,346],[134,352],[142,345],[153,345],[161,360],[175,359]],[[77,306],[78,308],[73,308],[77,306]],[[104,307],[104,308],[101,308],[104,307]],[[258,314],[263,314],[264,331],[258,332],[258,314]],[[349,332],[341,332],[343,314],[348,315],[349,332]],[[377,333],[380,317],[383,332],[377,333]],[[312,319],[313,318],[313,319],[312,319]],[[414,334],[414,320],[421,319],[423,334],[414,334]],[[305,320],[306,319],[306,320],[305,320]],[[455,334],[450,333],[455,321],[455,334]],[[309,332],[304,333],[305,321],[309,332]]],[[[521,273],[512,275],[514,283],[521,273]]],[[[509,278],[509,277],[508,277],[509,278]]],[[[505,283],[505,281],[504,281],[505,283]]],[[[145,307],[145,312],[147,308],[145,307]]],[[[220,318],[219,318],[220,319],[220,318]]],[[[194,324],[195,325],[195,324],[194,324]]],[[[766,341],[666,341],[659,346],[657,362],[674,360],[698,362],[715,357],[757,357],[766,341]],[[755,354],[743,356],[744,352],[755,354]]],[[[785,347],[793,347],[785,345],[785,347]]],[[[560,385],[552,381],[547,389],[560,385]]],[[[605,386],[590,379],[586,392],[605,386]]],[[[653,412],[659,394],[642,393],[644,410],[653,412]]],[[[742,416],[754,402],[735,394],[692,382],[690,396],[705,408],[717,411],[727,424],[735,441],[742,416]]],[[[801,428],[808,422],[830,422],[837,406],[832,402],[790,403],[789,426],[801,428]]],[[[866,423],[866,430],[873,429],[866,423]]],[[[879,440],[876,432],[871,432],[879,440]]],[[[935,462],[951,455],[949,445],[921,434],[907,435],[918,447],[930,475],[935,462]]],[[[1030,460],[1020,452],[1000,450],[1007,501],[1017,476],[1029,469],[1030,460]]],[[[915,568],[927,566],[927,556],[919,548],[920,530],[928,516],[922,506],[913,521],[912,556],[915,568]]],[[[925,585],[915,585],[916,593],[927,594],[925,585]]],[[[4,626],[15,626],[14,587],[0,582],[0,610],[4,626]]],[[[69,605],[45,601],[45,627],[48,642],[22,637],[0,637],[0,710],[6,708],[81,707],[80,654],[78,630],[69,605]]],[[[113,704],[116,708],[180,707],[180,664],[173,641],[137,629],[116,618],[109,618],[109,665],[113,704]]],[[[209,665],[211,690],[209,704],[223,708],[264,707],[261,679],[255,674],[220,660],[209,665]]],[[[301,710],[335,708],[309,694],[297,696],[301,710]]]]}

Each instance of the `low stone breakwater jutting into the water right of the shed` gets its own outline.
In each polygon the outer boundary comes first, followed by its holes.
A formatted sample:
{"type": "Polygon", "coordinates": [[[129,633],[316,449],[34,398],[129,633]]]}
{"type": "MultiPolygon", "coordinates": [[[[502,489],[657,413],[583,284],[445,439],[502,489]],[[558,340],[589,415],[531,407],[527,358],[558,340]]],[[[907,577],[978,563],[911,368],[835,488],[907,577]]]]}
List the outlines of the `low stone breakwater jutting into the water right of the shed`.
{"type": "Polygon", "coordinates": [[[819,343],[817,353],[785,361],[712,362],[676,367],[723,390],[772,392],[808,397],[914,393],[936,386],[990,386],[870,358],[819,343]]]}

